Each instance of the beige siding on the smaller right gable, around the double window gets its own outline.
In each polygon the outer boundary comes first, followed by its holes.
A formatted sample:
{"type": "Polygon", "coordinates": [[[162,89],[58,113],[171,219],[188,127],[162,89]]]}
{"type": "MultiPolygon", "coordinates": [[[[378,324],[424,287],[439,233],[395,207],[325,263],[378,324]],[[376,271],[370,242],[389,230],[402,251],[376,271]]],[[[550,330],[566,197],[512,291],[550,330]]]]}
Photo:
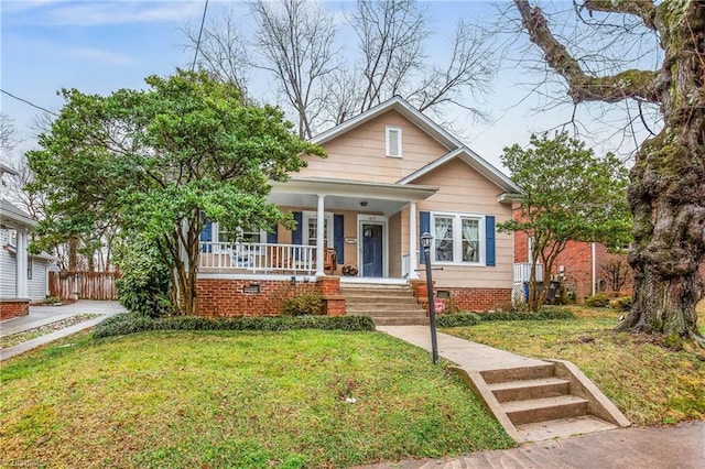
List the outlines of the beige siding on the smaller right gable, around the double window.
{"type": "MultiPolygon", "coordinates": [[[[502,189],[486,179],[465,162],[453,160],[415,181],[441,189],[417,204],[419,210],[468,215],[494,215],[497,223],[511,219],[511,207],[497,201],[502,189]]],[[[421,233],[420,233],[421,234],[421,233]]],[[[434,271],[438,287],[510,288],[512,283],[512,237],[496,233],[496,266],[443,265],[434,271]]]]}

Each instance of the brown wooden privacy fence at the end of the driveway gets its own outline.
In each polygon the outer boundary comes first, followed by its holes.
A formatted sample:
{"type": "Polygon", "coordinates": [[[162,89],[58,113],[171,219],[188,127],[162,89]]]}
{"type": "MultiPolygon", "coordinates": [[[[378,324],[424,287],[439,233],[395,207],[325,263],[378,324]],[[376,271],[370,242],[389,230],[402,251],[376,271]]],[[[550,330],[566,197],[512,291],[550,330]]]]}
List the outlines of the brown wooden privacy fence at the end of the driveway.
{"type": "Polygon", "coordinates": [[[50,272],[50,295],[62,299],[118,299],[118,272],[50,272]]]}

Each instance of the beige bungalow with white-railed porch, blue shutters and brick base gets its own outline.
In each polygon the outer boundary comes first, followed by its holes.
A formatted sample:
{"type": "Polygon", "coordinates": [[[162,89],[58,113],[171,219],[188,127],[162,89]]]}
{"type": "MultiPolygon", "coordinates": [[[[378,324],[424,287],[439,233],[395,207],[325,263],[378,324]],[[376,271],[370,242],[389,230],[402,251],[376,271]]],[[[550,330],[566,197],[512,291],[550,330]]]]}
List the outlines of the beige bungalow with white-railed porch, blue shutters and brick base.
{"type": "Polygon", "coordinates": [[[423,301],[425,231],[446,301],[465,310],[510,301],[513,241],[496,231],[512,216],[503,195],[519,190],[507,176],[399,97],[313,141],[328,157],[303,155],[308,166],[269,196],[294,230],[204,227],[199,314],[276,314],[282,297],[304,291],[345,314],[341,292],[360,283],[411,284],[423,301]]]}

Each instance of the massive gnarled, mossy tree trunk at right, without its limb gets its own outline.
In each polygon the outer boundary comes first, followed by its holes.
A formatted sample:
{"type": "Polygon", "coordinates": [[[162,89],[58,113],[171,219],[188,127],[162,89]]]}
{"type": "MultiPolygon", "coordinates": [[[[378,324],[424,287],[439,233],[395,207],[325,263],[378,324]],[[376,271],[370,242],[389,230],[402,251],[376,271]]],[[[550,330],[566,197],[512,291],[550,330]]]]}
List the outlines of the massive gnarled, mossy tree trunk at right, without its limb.
{"type": "Polygon", "coordinates": [[[705,252],[705,8],[657,17],[665,61],[658,83],[664,129],[631,171],[634,302],[620,330],[698,338],[705,252]]]}

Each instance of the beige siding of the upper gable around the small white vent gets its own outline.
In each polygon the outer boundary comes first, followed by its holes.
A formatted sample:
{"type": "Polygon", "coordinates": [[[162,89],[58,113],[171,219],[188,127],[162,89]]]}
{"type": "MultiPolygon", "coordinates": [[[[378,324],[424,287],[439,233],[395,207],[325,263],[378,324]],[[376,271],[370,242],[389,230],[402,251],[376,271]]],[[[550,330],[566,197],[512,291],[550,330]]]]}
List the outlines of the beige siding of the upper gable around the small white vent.
{"type": "Polygon", "coordinates": [[[323,144],[328,157],[305,156],[301,176],[395,183],[448,150],[397,111],[389,111],[323,144]],[[402,156],[386,156],[387,126],[402,129],[402,156]]]}

